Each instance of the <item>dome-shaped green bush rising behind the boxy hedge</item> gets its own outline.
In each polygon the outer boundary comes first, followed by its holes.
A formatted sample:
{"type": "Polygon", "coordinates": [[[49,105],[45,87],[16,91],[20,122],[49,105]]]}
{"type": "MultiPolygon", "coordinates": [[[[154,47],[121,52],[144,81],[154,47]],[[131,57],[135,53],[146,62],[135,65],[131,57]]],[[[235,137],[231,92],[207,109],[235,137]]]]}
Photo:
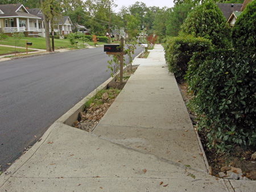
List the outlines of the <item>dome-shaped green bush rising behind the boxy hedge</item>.
{"type": "Polygon", "coordinates": [[[210,39],[216,47],[231,47],[230,29],[222,12],[213,1],[195,7],[181,26],[181,31],[210,39]]]}

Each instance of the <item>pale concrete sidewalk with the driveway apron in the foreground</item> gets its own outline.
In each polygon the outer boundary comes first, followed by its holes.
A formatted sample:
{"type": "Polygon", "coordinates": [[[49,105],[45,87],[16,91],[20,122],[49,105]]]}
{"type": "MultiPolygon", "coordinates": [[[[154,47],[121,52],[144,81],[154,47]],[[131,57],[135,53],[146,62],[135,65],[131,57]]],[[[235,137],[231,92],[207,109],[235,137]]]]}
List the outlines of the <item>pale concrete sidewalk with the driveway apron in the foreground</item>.
{"type": "Polygon", "coordinates": [[[133,64],[91,133],[60,118],[0,177],[0,191],[255,191],[253,181],[209,176],[163,47],[133,64]]]}

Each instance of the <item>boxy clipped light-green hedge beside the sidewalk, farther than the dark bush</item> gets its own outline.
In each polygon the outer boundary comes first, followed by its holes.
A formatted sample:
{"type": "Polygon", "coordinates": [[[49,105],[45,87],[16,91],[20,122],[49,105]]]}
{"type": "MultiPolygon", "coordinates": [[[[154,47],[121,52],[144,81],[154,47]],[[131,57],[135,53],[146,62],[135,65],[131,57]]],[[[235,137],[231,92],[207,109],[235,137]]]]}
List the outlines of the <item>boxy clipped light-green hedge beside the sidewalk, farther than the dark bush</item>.
{"type": "Polygon", "coordinates": [[[164,46],[169,71],[174,73],[178,80],[183,78],[193,52],[205,51],[210,46],[210,40],[201,37],[196,38],[191,35],[169,37],[164,46]]]}

